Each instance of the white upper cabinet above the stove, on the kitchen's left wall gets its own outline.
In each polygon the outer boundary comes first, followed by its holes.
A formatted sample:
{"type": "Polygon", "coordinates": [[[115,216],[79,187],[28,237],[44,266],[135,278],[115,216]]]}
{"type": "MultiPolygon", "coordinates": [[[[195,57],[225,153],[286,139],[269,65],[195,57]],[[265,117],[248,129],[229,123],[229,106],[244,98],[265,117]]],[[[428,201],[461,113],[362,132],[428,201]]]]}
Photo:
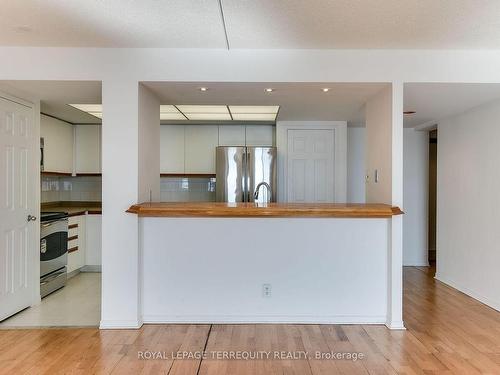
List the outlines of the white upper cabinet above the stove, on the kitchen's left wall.
{"type": "Polygon", "coordinates": [[[40,115],[40,137],[44,140],[44,170],[73,173],[73,125],[40,115]]]}

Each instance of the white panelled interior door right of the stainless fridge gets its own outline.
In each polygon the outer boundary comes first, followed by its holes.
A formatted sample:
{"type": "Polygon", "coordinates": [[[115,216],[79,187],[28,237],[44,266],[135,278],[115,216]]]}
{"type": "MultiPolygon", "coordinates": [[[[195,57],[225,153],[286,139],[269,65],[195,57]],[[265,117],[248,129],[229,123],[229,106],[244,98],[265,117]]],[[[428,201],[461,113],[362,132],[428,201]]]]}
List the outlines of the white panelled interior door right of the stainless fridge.
{"type": "Polygon", "coordinates": [[[335,201],[335,131],[288,130],[288,202],[335,201]]]}

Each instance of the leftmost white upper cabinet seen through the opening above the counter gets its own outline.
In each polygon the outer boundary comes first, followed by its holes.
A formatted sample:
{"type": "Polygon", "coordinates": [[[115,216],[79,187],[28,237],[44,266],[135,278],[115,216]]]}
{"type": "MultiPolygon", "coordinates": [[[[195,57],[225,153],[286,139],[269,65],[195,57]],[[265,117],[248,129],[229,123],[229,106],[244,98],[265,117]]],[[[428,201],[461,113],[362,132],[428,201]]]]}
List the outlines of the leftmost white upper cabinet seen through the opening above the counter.
{"type": "Polygon", "coordinates": [[[184,125],[160,126],[160,172],[184,173],[184,125]]]}

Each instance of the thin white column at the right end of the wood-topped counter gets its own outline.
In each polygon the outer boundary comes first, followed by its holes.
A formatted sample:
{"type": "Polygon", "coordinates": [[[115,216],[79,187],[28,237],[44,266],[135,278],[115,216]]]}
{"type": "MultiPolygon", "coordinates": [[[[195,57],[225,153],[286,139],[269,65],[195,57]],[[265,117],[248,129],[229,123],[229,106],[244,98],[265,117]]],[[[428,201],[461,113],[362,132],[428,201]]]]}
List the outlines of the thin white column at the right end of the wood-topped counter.
{"type": "MultiPolygon", "coordinates": [[[[403,83],[392,83],[392,205],[403,209],[403,83]]],[[[387,327],[403,323],[403,217],[393,216],[388,268],[387,327]]]]}

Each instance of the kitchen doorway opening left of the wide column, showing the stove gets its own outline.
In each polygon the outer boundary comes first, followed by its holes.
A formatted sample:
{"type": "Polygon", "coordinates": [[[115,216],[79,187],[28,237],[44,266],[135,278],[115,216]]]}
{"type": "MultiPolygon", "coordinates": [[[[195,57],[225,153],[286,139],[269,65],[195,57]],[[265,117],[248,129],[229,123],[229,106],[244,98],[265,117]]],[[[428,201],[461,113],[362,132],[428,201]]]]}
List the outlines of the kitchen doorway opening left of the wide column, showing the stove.
{"type": "Polygon", "coordinates": [[[0,114],[12,120],[2,146],[13,150],[0,155],[13,166],[0,168],[13,180],[2,219],[18,218],[28,239],[11,236],[8,247],[23,251],[0,257],[16,286],[0,294],[0,329],[99,326],[102,121],[78,105],[100,105],[101,90],[100,81],[0,81],[0,114]]]}

